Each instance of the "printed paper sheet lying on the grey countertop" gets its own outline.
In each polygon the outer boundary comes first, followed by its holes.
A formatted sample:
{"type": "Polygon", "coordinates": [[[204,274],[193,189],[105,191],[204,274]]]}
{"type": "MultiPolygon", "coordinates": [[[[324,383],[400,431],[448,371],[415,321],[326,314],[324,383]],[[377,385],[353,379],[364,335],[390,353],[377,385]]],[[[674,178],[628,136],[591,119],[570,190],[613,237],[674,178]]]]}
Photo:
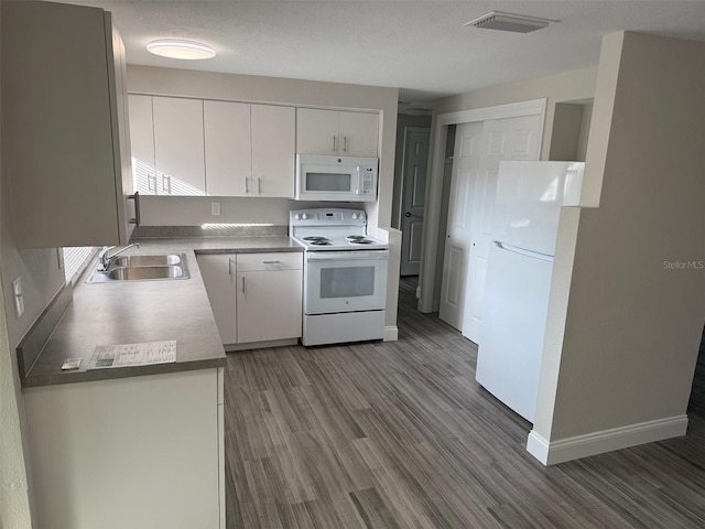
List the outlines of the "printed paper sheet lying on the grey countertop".
{"type": "Polygon", "coordinates": [[[176,361],[176,341],[145,342],[142,344],[99,345],[86,369],[148,366],[176,361]]]}

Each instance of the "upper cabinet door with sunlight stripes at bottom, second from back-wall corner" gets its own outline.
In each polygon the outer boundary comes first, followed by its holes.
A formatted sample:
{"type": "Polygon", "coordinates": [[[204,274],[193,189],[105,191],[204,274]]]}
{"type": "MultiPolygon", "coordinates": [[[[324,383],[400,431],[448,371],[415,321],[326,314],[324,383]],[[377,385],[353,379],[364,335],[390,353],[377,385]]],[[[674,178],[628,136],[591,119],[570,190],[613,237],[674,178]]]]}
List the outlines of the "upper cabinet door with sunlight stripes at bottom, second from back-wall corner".
{"type": "Polygon", "coordinates": [[[167,195],[205,194],[203,101],[153,97],[152,104],[160,191],[167,195]]]}

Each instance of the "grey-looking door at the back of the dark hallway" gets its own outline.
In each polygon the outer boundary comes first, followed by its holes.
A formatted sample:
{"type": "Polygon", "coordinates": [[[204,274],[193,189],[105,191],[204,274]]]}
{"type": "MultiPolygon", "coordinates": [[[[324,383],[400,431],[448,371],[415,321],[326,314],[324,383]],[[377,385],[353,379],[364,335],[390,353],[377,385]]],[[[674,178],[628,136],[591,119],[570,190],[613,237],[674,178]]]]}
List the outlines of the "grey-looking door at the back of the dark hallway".
{"type": "Polygon", "coordinates": [[[401,274],[419,276],[431,129],[410,127],[404,144],[401,274]]]}

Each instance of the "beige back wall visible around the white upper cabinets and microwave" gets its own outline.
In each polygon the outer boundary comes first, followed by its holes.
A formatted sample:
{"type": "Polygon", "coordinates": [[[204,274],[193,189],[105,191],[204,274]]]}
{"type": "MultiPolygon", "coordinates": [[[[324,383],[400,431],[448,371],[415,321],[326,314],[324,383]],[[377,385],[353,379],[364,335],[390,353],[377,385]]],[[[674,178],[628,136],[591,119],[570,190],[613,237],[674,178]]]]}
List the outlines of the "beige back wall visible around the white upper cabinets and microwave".
{"type": "MultiPolygon", "coordinates": [[[[149,66],[128,66],[128,90],[138,94],[184,96],[250,102],[271,102],[339,109],[365,109],[380,112],[380,168],[378,202],[366,204],[368,228],[371,235],[390,244],[401,244],[391,228],[392,195],[394,184],[394,149],[397,136],[397,88],[321,83],[313,80],[219,74],[149,66]]],[[[257,222],[289,224],[289,210],[306,207],[278,198],[223,197],[224,214],[210,215],[212,197],[191,197],[169,201],[144,197],[142,201],[144,224],[175,219],[176,225],[204,223],[257,222]],[[173,206],[173,207],[172,207],[173,206]],[[226,220],[227,219],[227,220],[226,220]],[[252,220],[257,219],[257,220],[252,220]],[[284,220],[284,222],[282,222],[284,220]]],[[[390,248],[391,252],[400,252],[390,248]]],[[[397,325],[399,290],[399,262],[390,260],[387,278],[386,325],[397,325]]]]}

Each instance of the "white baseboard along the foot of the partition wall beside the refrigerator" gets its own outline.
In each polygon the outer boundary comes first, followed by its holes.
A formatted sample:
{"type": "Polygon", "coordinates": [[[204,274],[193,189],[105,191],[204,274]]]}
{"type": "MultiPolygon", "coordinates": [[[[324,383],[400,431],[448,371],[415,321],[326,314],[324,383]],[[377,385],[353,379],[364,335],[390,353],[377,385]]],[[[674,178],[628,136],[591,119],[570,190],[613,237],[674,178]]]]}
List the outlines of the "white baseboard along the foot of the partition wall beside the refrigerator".
{"type": "Polygon", "coordinates": [[[552,442],[532,430],[527,441],[527,451],[544,465],[554,465],[614,450],[677,438],[685,435],[686,430],[687,415],[640,422],[552,442]]]}

